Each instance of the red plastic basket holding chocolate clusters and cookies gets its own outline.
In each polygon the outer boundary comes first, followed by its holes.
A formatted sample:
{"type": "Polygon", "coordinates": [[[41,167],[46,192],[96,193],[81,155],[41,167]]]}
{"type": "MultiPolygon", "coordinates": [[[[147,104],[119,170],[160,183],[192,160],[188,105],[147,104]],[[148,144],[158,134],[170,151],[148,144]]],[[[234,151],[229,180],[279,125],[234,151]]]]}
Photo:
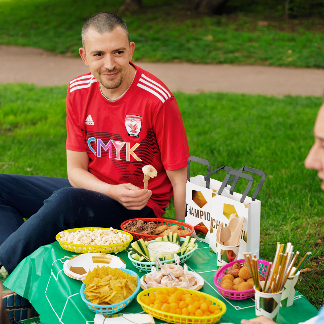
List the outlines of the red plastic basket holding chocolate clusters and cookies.
{"type": "Polygon", "coordinates": [[[127,221],[122,222],[121,223],[121,229],[123,231],[125,231],[125,232],[128,232],[128,233],[132,234],[134,240],[138,240],[140,238],[143,238],[146,241],[151,241],[151,240],[155,240],[156,237],[161,236],[161,235],[149,235],[149,234],[135,233],[135,232],[129,231],[129,230],[124,228],[125,224],[127,224],[129,221],[133,222],[135,219],[140,219],[144,223],[155,222],[157,226],[160,226],[160,225],[167,225],[167,226],[178,225],[179,229],[186,229],[186,230],[189,231],[189,233],[187,233],[187,234],[179,235],[180,237],[191,236],[191,234],[194,231],[193,226],[191,226],[189,224],[186,224],[186,223],[175,221],[173,219],[168,219],[168,218],[132,218],[132,219],[128,219],[127,221]]]}

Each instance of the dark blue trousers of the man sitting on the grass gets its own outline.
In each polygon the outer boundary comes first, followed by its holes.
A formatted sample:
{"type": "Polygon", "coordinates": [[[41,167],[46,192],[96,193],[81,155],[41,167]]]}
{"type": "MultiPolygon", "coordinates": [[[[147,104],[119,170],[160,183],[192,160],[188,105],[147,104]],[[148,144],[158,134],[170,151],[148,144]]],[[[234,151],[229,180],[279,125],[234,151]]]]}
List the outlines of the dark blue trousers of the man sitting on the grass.
{"type": "Polygon", "coordinates": [[[128,210],[105,194],[73,188],[68,179],[0,174],[0,263],[10,274],[65,229],[118,229],[123,221],[140,217],[155,215],[147,206],[128,210]]]}

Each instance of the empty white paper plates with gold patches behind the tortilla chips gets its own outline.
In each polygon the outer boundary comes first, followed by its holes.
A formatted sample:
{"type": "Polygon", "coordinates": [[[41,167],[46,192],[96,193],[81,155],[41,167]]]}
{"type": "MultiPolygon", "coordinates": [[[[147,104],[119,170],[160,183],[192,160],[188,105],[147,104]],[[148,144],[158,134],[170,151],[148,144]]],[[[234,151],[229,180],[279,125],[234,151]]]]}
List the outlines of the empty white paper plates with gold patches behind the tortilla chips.
{"type": "Polygon", "coordinates": [[[73,279],[83,280],[89,271],[97,266],[110,268],[126,268],[126,263],[121,258],[106,253],[83,253],[67,259],[63,265],[64,273],[73,279]]]}

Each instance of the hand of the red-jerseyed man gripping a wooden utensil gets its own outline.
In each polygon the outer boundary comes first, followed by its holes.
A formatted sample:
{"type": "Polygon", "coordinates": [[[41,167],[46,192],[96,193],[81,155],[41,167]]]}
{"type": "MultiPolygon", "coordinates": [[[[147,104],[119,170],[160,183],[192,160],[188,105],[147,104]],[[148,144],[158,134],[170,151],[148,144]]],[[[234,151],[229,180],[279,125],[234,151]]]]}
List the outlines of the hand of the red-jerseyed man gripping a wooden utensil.
{"type": "Polygon", "coordinates": [[[151,190],[141,189],[131,183],[112,185],[110,197],[127,209],[141,210],[152,195],[151,190]]]}

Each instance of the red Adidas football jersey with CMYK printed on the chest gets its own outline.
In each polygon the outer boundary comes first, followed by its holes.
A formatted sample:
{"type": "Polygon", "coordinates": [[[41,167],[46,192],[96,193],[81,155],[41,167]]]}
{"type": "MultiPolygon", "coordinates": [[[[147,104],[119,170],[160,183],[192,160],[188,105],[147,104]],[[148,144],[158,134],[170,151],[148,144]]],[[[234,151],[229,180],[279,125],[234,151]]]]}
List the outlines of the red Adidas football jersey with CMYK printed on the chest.
{"type": "Polygon", "coordinates": [[[152,196],[147,206],[162,217],[173,194],[165,170],[187,165],[187,136],[169,89],[154,75],[133,66],[134,80],[116,101],[103,97],[91,73],[70,81],[66,148],[86,151],[89,172],[109,184],[143,188],[142,167],[154,166],[157,176],[148,182],[152,196]]]}

